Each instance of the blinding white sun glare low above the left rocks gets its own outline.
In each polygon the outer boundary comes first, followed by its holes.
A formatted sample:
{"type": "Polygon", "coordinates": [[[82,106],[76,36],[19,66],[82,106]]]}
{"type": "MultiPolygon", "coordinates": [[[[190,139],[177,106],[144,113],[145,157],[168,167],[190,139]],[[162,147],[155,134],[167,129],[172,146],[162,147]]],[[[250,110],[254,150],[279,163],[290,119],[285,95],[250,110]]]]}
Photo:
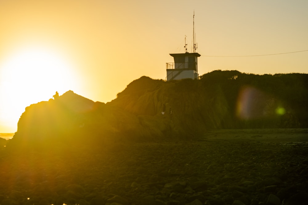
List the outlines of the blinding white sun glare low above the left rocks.
{"type": "Polygon", "coordinates": [[[48,101],[56,91],[77,89],[72,64],[59,52],[27,48],[0,62],[0,126],[17,126],[25,107],[48,101]]]}

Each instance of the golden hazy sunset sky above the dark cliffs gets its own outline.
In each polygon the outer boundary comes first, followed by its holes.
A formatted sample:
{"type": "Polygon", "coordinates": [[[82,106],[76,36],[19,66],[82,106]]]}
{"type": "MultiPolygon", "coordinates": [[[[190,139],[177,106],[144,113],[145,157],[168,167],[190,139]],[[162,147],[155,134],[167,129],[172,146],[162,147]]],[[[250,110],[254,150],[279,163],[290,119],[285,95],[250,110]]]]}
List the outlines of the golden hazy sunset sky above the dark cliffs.
{"type": "Polygon", "coordinates": [[[0,133],[30,104],[68,90],[109,102],[140,78],[166,78],[169,53],[198,73],[307,73],[306,0],[0,0],[0,133]],[[254,57],[247,56],[288,53],[254,57]]]}

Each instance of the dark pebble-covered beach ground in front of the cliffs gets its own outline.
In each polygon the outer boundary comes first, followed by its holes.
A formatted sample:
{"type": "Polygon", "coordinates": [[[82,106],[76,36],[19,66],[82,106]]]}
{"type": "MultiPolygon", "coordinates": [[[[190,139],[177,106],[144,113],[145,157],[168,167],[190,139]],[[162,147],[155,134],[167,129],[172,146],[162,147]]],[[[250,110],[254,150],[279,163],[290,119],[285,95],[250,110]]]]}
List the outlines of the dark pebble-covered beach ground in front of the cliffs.
{"type": "Polygon", "coordinates": [[[307,133],[216,130],[99,150],[2,150],[0,204],[307,204],[307,133]]]}

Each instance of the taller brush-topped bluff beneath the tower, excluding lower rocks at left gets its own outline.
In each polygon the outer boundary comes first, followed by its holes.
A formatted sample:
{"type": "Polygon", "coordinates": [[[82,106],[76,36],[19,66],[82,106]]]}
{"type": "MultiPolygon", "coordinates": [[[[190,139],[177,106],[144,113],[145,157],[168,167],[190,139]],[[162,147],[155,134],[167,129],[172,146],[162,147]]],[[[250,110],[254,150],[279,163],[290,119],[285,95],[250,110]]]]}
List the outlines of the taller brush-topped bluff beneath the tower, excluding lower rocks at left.
{"type": "Polygon", "coordinates": [[[197,81],[141,77],[110,104],[137,116],[160,114],[166,104],[173,121],[192,133],[203,128],[306,128],[307,94],[307,74],[217,70],[197,81]]]}

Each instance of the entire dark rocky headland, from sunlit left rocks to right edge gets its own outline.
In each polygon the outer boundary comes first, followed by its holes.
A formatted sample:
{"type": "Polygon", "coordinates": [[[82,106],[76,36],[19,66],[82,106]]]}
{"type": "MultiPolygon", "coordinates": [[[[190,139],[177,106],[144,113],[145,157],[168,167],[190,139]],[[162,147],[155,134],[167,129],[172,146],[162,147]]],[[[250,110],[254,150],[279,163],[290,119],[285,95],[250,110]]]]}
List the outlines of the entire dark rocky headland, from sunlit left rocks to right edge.
{"type": "Polygon", "coordinates": [[[307,113],[307,74],[218,70],[170,82],[143,76],[107,104],[68,91],[30,105],[8,146],[193,138],[215,128],[306,128],[307,113]]]}

